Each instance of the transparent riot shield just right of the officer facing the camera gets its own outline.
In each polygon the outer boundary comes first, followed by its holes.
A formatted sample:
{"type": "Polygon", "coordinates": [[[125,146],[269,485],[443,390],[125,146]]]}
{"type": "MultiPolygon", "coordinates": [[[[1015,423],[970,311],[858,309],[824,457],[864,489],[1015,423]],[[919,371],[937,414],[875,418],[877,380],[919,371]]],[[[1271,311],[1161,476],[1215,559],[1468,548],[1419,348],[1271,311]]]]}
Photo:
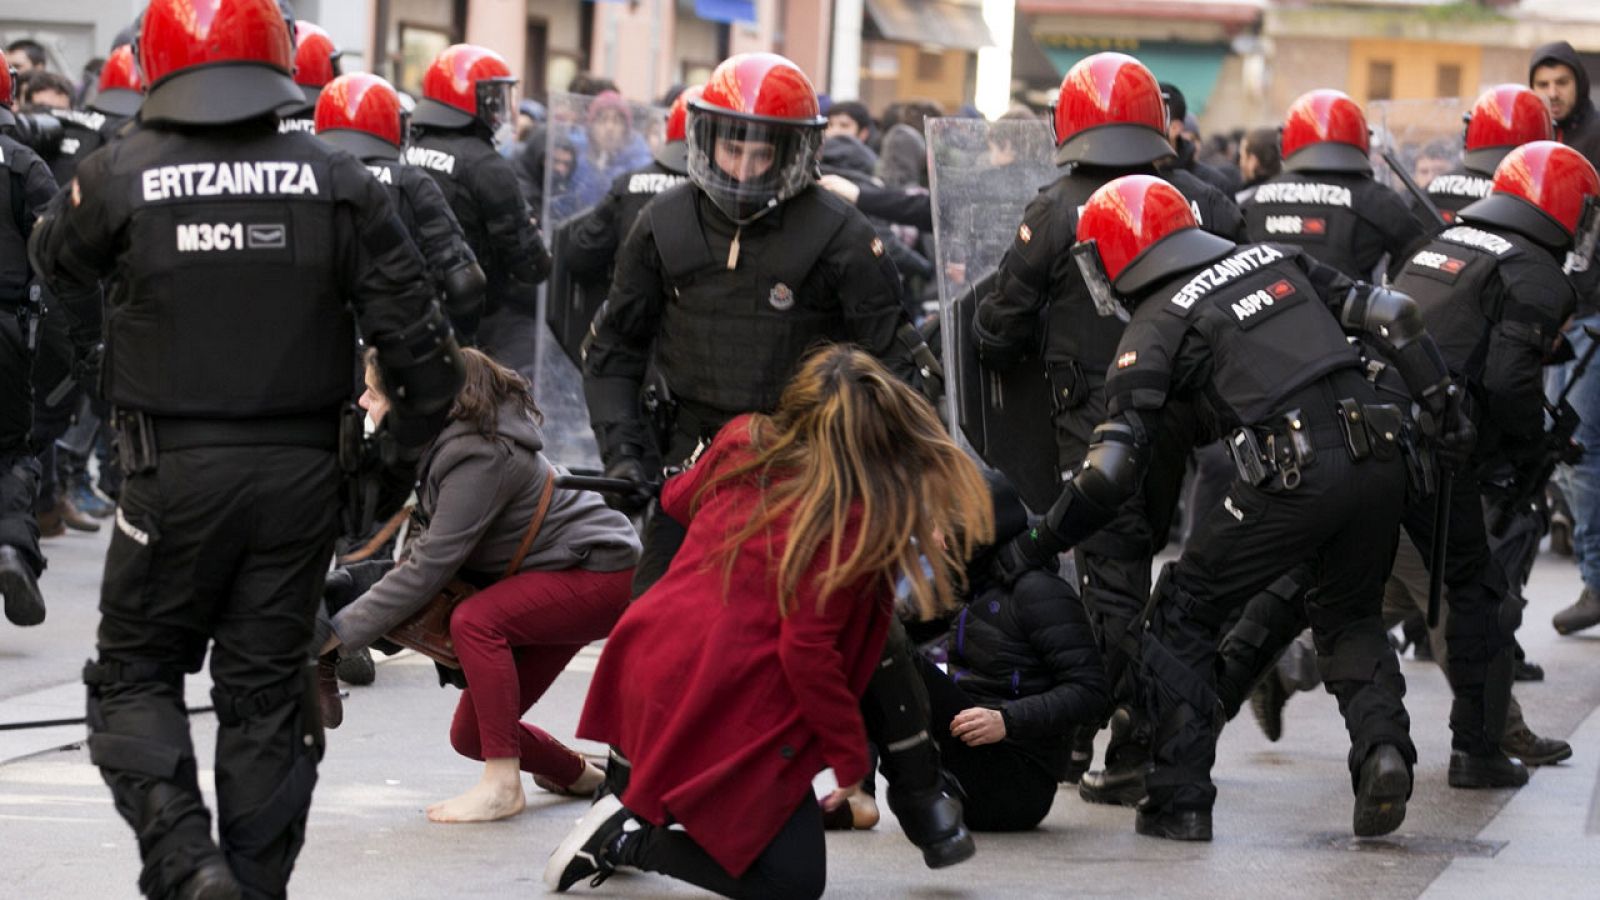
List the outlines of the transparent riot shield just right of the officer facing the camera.
{"type": "Polygon", "coordinates": [[[979,367],[973,314],[1022,210],[1059,175],[1056,143],[1042,119],[930,119],[926,128],[947,420],[1042,512],[1061,490],[1043,362],[1034,356],[1006,373],[979,367]]]}

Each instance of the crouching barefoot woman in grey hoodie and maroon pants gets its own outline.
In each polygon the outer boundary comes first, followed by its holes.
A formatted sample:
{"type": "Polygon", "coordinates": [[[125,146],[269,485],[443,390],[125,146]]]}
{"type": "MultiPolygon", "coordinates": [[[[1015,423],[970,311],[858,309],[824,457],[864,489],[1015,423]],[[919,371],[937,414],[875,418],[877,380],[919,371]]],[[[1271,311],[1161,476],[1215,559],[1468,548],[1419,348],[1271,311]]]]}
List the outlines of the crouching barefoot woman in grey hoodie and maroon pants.
{"type": "MultiPolygon", "coordinates": [[[[485,354],[462,351],[467,380],[450,424],[418,469],[421,535],[376,585],[333,615],[323,647],[366,647],[419,610],[451,578],[488,585],[517,554],[555,469],[546,461],[528,383],[485,354]]],[[[378,370],[366,367],[362,407],[387,410],[378,370]]],[[[467,689],[450,743],[483,761],[470,791],[434,804],[434,822],[488,822],[522,812],[520,772],[557,793],[587,794],[598,767],[523,722],[555,676],[590,641],[605,637],[627,605],[638,536],[594,493],[555,488],[517,575],[456,607],[451,641],[467,689]]]]}

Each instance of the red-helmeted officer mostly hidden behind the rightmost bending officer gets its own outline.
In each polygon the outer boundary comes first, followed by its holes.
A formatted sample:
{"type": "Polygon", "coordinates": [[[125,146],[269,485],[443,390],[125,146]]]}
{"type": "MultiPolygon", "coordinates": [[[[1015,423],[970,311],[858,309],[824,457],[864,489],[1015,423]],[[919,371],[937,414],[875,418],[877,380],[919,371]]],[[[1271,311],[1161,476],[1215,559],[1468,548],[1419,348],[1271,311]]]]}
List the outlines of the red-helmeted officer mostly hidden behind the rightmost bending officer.
{"type": "MultiPolygon", "coordinates": [[[[1539,94],[1522,85],[1496,85],[1474,101],[1467,112],[1461,162],[1456,168],[1427,183],[1427,197],[1446,224],[1467,203],[1490,195],[1494,168],[1506,154],[1528,141],[1554,141],[1555,123],[1539,94]]],[[[1413,207],[1419,218],[1426,218],[1413,207]]]]}

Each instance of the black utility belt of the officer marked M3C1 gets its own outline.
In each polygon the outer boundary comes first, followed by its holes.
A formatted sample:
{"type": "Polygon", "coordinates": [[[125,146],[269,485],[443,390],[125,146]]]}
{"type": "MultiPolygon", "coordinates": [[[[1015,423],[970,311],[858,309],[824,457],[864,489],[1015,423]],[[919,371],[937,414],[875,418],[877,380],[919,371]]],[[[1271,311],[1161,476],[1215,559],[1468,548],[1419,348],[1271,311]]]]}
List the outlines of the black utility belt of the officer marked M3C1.
{"type": "Polygon", "coordinates": [[[112,410],[118,461],[128,474],[155,471],[162,452],[195,447],[339,448],[339,420],[328,413],[248,420],[152,416],[112,410]]]}

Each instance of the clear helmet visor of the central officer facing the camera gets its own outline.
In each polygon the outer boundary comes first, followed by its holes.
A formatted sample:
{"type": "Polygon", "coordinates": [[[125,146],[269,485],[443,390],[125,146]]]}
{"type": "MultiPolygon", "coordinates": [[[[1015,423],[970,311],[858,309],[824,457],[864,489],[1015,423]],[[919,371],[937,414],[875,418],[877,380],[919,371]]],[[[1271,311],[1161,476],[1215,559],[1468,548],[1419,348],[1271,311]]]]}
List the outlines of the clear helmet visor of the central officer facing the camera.
{"type": "Polygon", "coordinates": [[[690,112],[688,176],[718,210],[749,223],[816,181],[822,128],[690,112]]]}

